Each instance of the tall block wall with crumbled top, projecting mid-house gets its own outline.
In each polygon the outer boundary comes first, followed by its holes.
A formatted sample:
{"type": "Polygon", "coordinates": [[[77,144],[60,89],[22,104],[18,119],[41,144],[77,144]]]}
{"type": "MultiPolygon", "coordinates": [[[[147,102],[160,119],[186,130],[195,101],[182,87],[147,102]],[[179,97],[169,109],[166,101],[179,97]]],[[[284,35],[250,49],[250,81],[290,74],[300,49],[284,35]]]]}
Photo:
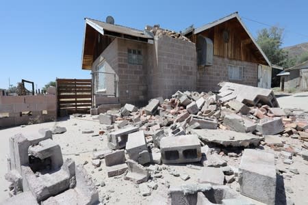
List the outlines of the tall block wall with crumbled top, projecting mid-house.
{"type": "Polygon", "coordinates": [[[149,46],[149,98],[170,98],[177,90],[196,90],[196,46],[169,36],[149,46]]]}

